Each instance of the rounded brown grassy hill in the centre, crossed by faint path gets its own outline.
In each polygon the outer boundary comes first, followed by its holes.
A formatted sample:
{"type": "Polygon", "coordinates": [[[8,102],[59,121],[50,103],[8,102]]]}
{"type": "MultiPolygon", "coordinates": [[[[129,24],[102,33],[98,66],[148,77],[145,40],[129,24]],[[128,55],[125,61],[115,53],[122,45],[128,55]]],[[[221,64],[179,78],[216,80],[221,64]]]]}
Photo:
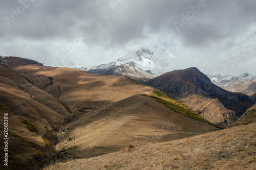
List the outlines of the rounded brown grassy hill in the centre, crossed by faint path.
{"type": "Polygon", "coordinates": [[[134,140],[162,142],[215,129],[218,128],[177,113],[148,96],[134,95],[63,126],[56,150],[63,159],[89,158],[120,151],[134,140]]]}

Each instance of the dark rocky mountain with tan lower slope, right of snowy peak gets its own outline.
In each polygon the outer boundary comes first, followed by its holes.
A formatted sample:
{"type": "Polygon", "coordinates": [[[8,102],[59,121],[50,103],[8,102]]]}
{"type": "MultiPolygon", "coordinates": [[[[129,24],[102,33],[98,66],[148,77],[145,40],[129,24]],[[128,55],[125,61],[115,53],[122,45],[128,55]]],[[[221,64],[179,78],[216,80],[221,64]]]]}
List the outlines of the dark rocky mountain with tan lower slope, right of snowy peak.
{"type": "Polygon", "coordinates": [[[252,106],[248,95],[229,92],[217,85],[195,67],[174,70],[145,83],[155,87],[219,126],[227,126],[252,106]]]}

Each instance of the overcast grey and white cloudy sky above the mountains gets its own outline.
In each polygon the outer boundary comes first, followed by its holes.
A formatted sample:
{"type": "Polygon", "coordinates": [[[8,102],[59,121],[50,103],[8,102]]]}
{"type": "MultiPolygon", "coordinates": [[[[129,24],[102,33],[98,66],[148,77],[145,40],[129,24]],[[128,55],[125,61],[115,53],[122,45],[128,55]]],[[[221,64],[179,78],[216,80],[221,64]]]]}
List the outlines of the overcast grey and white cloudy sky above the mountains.
{"type": "Polygon", "coordinates": [[[156,43],[176,56],[170,70],[256,75],[255,9],[254,0],[2,0],[0,55],[99,65],[156,43]]]}

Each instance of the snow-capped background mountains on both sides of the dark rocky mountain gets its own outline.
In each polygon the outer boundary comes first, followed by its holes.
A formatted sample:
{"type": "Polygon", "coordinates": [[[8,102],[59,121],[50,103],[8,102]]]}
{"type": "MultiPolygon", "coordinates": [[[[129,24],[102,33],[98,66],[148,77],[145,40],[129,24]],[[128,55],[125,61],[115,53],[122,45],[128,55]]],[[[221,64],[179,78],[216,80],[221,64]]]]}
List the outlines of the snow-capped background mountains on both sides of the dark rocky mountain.
{"type": "MultiPolygon", "coordinates": [[[[155,78],[172,70],[170,64],[176,58],[161,45],[141,46],[131,51],[117,61],[99,66],[77,66],[70,62],[65,67],[78,68],[99,75],[129,76],[140,83],[155,78]]],[[[256,93],[256,76],[249,73],[240,76],[206,74],[215,85],[232,92],[242,92],[247,95],[256,93]]]]}

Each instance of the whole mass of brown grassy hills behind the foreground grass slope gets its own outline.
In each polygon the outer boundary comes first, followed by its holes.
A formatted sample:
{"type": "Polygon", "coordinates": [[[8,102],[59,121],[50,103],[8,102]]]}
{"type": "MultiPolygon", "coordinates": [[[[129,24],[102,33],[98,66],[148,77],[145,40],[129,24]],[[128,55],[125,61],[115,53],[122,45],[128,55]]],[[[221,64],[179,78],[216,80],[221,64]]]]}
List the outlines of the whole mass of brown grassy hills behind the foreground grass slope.
{"type": "MultiPolygon", "coordinates": [[[[220,130],[129,77],[18,57],[0,60],[0,113],[8,113],[10,169],[100,156],[121,151],[134,140],[163,142],[220,130]]],[[[4,121],[0,129],[4,131],[4,121]]],[[[2,142],[1,151],[3,147],[2,142]]]]}

